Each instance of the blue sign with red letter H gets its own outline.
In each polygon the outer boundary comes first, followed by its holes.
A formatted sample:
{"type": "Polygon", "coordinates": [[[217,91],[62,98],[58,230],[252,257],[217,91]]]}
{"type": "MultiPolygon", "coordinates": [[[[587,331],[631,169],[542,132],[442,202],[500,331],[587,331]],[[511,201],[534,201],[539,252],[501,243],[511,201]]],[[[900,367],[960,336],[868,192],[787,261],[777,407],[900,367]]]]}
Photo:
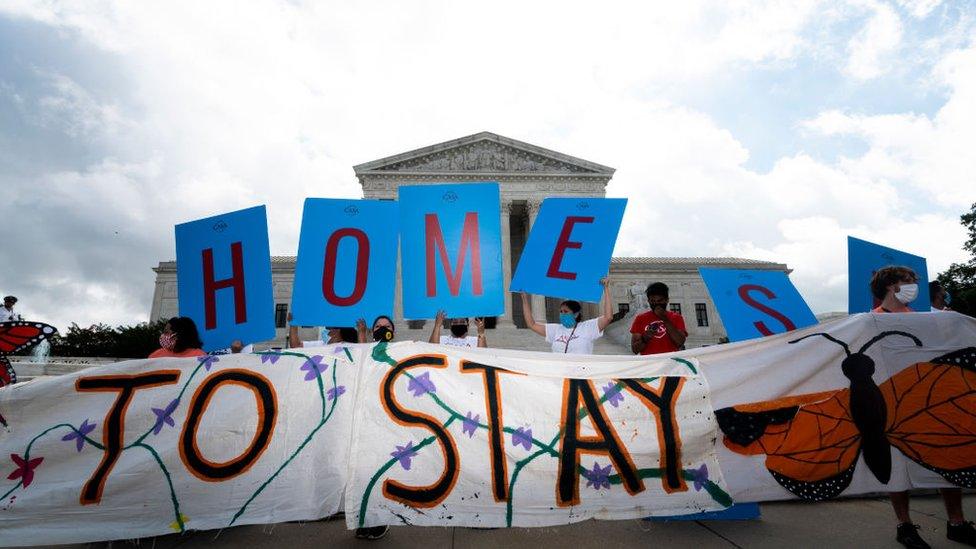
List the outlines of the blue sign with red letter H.
{"type": "Polygon", "coordinates": [[[205,351],[275,337],[268,216],[264,206],[176,226],[180,316],[205,351]]]}

